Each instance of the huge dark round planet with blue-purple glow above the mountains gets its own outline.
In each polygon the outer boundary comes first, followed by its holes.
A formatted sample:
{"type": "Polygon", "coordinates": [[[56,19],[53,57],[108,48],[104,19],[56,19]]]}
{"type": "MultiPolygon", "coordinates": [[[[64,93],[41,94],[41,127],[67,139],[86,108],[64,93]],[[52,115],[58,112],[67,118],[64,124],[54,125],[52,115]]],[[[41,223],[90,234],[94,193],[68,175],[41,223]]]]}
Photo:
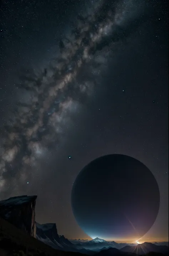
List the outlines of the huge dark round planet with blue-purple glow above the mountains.
{"type": "Polygon", "coordinates": [[[160,193],[152,172],[126,155],[106,155],[86,165],[72,188],[78,225],[91,238],[136,241],[152,227],[160,193]]]}

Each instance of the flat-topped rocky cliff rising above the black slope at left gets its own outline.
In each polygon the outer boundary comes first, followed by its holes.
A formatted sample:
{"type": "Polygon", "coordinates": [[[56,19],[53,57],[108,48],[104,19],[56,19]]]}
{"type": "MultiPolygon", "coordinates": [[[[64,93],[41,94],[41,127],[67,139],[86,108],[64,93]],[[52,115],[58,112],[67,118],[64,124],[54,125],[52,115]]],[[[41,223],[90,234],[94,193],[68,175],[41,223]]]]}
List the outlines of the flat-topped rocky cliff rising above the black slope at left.
{"type": "Polygon", "coordinates": [[[35,204],[37,196],[15,196],[0,201],[0,217],[30,236],[36,237],[35,204]]]}

